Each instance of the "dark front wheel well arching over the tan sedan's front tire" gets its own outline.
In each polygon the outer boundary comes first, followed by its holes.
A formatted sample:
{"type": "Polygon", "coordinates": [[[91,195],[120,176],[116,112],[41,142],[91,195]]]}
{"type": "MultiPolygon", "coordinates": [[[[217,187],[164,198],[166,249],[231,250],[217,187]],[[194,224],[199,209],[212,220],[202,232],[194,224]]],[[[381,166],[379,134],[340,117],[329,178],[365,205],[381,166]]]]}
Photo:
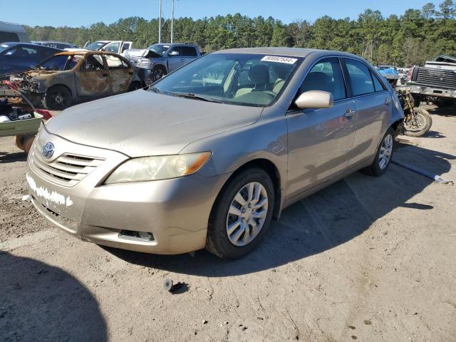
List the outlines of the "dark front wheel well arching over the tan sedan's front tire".
{"type": "MultiPolygon", "coordinates": [[[[281,180],[280,180],[279,170],[277,169],[276,165],[274,165],[274,163],[271,162],[271,160],[260,158],[260,159],[250,160],[249,162],[246,162],[245,164],[241,165],[228,178],[227,182],[225,182],[224,186],[222,187],[222,190],[224,189],[224,187],[226,187],[229,184],[229,182],[239,172],[242,172],[242,171],[244,171],[246,169],[249,169],[250,167],[259,167],[260,169],[264,170],[269,175],[269,177],[271,177],[272,184],[274,184],[274,193],[275,193],[273,217],[274,218],[278,218],[279,214],[280,214],[280,209],[281,209],[281,195],[282,195],[282,192],[281,192],[281,180]]],[[[222,190],[220,190],[219,193],[221,193],[222,190]]],[[[215,206],[215,203],[217,203],[217,199],[214,202],[214,206],[215,206]]]]}

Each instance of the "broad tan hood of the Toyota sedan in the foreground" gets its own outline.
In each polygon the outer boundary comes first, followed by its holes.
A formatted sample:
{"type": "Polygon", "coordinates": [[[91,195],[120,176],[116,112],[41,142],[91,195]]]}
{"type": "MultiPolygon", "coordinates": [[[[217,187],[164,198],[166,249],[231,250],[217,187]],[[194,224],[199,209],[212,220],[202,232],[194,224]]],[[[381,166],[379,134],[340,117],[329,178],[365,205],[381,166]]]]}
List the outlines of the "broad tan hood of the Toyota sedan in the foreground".
{"type": "Polygon", "coordinates": [[[130,157],[172,155],[196,140],[252,125],[262,109],[136,90],[68,108],[46,130],[130,157]]]}

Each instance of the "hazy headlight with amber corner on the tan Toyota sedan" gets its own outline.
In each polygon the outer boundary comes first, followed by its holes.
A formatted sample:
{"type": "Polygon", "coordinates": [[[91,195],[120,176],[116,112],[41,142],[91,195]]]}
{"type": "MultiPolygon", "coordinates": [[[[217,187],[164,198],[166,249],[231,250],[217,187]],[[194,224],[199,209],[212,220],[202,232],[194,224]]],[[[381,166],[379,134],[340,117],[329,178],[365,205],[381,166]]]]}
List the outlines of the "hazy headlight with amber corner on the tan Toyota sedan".
{"type": "Polygon", "coordinates": [[[105,184],[167,180],[192,175],[209,160],[211,152],[160,155],[127,160],[110,174],[105,184]]]}

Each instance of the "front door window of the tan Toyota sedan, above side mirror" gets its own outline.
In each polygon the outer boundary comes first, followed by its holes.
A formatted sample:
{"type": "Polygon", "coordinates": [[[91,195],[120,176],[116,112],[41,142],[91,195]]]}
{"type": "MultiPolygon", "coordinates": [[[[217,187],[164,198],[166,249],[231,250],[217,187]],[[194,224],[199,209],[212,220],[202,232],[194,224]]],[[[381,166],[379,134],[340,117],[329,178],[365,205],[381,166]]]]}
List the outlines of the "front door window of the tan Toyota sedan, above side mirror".
{"type": "Polygon", "coordinates": [[[345,82],[338,58],[326,58],[311,68],[302,83],[301,93],[309,90],[323,90],[333,94],[334,100],[346,98],[345,82]]]}

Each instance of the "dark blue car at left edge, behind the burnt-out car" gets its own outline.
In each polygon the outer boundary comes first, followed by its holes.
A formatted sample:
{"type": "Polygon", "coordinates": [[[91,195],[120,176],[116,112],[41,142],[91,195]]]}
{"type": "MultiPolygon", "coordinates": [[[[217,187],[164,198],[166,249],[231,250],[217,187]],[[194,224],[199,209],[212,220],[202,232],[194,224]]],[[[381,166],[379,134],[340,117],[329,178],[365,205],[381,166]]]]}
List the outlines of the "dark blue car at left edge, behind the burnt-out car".
{"type": "Polygon", "coordinates": [[[63,50],[28,43],[0,43],[0,76],[27,71],[63,50]]]}

